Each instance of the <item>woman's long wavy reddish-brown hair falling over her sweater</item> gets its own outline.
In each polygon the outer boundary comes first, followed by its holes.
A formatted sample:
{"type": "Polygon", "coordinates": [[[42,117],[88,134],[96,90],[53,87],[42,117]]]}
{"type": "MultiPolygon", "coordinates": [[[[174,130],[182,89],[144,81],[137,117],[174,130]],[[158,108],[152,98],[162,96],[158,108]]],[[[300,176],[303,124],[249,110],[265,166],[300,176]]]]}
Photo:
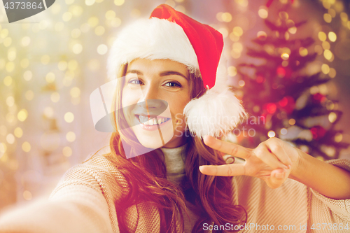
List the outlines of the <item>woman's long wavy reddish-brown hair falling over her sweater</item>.
{"type": "MultiPolygon", "coordinates": [[[[122,109],[121,94],[124,85],[127,65],[120,67],[118,72],[118,87],[114,110],[122,109]]],[[[202,78],[190,74],[190,97],[201,97],[206,89],[202,78]]],[[[179,187],[167,180],[167,169],[162,150],[156,149],[144,155],[127,159],[122,140],[136,148],[139,144],[132,130],[123,135],[118,129],[125,124],[124,114],[113,111],[113,124],[116,129],[111,135],[111,154],[105,157],[115,164],[118,171],[125,177],[129,192],[116,203],[118,225],[120,232],[129,232],[126,224],[126,210],[141,202],[148,202],[157,207],[160,213],[160,232],[183,232],[183,214],[188,214],[185,199],[197,206],[200,219],[195,223],[192,232],[202,232],[203,224],[209,225],[243,225],[246,223],[246,211],[233,202],[232,177],[206,176],[199,170],[200,165],[225,164],[218,151],[209,148],[202,139],[188,133],[186,129],[186,176],[190,188],[183,193],[179,187]],[[140,178],[142,177],[142,178],[140,178]],[[180,225],[179,225],[180,223],[180,225]]],[[[125,129],[125,127],[123,127],[125,129]]],[[[221,232],[221,231],[220,231],[221,232]]],[[[237,232],[237,230],[228,231],[237,232]]]]}

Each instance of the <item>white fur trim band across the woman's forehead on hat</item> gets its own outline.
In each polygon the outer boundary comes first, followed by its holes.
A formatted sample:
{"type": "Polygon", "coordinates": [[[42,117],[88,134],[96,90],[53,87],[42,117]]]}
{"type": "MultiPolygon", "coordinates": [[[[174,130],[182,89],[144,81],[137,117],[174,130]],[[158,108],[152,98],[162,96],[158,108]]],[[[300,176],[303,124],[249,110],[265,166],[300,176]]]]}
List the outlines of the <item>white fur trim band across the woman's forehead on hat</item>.
{"type": "Polygon", "coordinates": [[[185,31],[168,20],[156,17],[138,20],[120,31],[107,61],[109,79],[116,78],[122,64],[137,58],[172,59],[200,76],[197,55],[185,31]]]}

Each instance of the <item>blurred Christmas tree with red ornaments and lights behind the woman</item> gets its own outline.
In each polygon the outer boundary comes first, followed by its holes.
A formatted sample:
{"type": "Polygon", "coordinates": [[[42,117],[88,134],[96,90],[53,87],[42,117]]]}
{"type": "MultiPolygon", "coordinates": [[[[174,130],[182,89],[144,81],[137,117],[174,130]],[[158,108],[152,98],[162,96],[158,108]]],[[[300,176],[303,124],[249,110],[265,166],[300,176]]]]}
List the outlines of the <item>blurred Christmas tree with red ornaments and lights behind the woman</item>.
{"type": "MultiPolygon", "coordinates": [[[[249,57],[265,59],[265,64],[237,66],[239,95],[250,116],[239,131],[243,129],[246,135],[235,134],[241,146],[254,148],[276,136],[321,160],[335,159],[349,143],[342,142],[342,131],[335,129],[342,116],[337,100],[320,91],[332,77],[331,68],[323,64],[323,72],[305,73],[304,68],[317,56],[307,49],[314,45],[314,39],[290,39],[290,34],[305,23],[289,20],[284,11],[279,12],[276,22],[265,19],[271,35],[260,31],[253,40],[258,49],[247,50],[249,57]]],[[[330,52],[328,60],[331,58],[330,52]]]]}

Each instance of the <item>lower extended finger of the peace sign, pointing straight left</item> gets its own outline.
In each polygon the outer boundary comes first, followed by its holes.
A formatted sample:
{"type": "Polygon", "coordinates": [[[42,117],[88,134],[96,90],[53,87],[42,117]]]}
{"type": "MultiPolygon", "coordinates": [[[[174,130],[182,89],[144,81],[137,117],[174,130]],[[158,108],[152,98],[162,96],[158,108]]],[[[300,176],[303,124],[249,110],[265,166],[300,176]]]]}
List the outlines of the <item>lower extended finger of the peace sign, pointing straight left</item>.
{"type": "Polygon", "coordinates": [[[242,176],[245,169],[244,164],[203,165],[200,172],[209,176],[242,176]]]}

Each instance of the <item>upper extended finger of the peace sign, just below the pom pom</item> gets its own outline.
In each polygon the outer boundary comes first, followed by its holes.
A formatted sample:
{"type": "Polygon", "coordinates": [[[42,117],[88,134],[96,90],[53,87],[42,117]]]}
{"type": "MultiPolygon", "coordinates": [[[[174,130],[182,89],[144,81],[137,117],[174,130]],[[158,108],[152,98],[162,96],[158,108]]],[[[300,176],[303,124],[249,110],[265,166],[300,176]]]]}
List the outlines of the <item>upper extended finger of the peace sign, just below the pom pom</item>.
{"type": "Polygon", "coordinates": [[[251,154],[251,149],[244,148],[243,146],[238,146],[235,143],[221,141],[219,139],[214,138],[214,136],[206,135],[204,136],[203,139],[204,139],[204,143],[207,146],[213,148],[214,150],[219,150],[229,155],[234,155],[236,157],[246,159],[251,154]]]}

